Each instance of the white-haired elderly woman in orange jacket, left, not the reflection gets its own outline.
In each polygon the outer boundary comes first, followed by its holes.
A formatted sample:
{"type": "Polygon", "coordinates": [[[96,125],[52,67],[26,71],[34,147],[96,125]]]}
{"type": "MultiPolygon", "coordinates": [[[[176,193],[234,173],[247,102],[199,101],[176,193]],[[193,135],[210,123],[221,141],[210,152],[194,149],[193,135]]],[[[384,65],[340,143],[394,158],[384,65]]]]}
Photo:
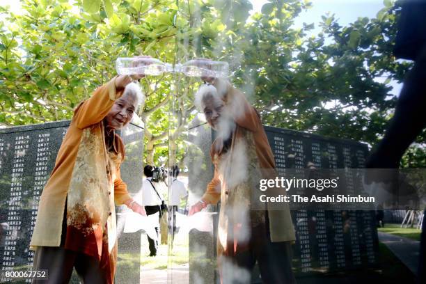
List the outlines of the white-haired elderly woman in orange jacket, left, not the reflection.
{"type": "Polygon", "coordinates": [[[42,191],[30,244],[34,269],[48,269],[48,283],[68,283],[73,267],[84,283],[113,283],[115,204],[145,215],[120,178],[125,147],[116,134],[143,100],[141,87],[132,83],[140,78],[114,77],[74,111],[42,191]]]}

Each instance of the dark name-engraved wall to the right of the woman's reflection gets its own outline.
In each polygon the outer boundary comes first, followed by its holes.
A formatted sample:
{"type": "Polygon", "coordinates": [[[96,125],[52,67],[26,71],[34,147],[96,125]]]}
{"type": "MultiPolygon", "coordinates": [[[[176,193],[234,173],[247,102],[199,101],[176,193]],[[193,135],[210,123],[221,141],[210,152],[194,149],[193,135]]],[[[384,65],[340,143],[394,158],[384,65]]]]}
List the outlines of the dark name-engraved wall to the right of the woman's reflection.
{"type": "MultiPolygon", "coordinates": [[[[278,172],[285,168],[363,168],[368,147],[363,143],[329,139],[276,127],[265,127],[278,172]]],[[[348,173],[350,174],[350,172],[348,173]]],[[[356,195],[361,187],[347,176],[345,194],[356,195]]],[[[336,193],[337,194],[337,193],[336,193]]],[[[362,206],[362,205],[360,205],[362,206]]],[[[373,211],[294,210],[297,241],[294,267],[299,274],[368,267],[378,260],[378,237],[373,211]]]]}

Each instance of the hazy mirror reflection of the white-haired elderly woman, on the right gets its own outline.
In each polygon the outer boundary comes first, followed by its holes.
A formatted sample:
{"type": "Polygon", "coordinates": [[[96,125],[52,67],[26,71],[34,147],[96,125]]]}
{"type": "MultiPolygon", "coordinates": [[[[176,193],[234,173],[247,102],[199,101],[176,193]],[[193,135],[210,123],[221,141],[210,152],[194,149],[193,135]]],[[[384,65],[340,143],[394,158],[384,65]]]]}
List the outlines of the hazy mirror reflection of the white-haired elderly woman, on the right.
{"type": "Polygon", "coordinates": [[[261,178],[276,175],[275,161],[258,112],[223,79],[204,78],[196,105],[216,130],[210,155],[214,178],[189,214],[221,201],[217,255],[221,283],[251,283],[256,260],[264,283],[294,283],[289,208],[254,205],[261,178]]]}

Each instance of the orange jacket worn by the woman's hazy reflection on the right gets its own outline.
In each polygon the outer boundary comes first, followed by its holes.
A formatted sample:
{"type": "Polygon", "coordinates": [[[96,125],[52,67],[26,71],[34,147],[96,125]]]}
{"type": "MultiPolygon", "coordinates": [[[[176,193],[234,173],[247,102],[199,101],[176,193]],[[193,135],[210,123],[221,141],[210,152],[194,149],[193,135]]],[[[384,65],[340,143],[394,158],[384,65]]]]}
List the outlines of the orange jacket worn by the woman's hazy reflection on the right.
{"type": "MultiPolygon", "coordinates": [[[[271,147],[269,146],[265,129],[262,126],[258,112],[247,102],[244,94],[236,88],[233,88],[227,81],[223,81],[223,79],[216,79],[214,86],[219,93],[223,94],[223,101],[226,106],[228,106],[228,111],[232,113],[232,118],[236,124],[235,131],[232,134],[232,146],[230,150],[228,150],[231,157],[229,167],[235,166],[235,161],[232,161],[232,159],[240,155],[240,153],[235,155],[235,152],[238,151],[235,148],[235,145],[243,143],[244,145],[249,146],[254,143],[255,150],[253,151],[253,155],[257,157],[248,157],[247,161],[254,158],[258,162],[258,165],[255,166],[255,171],[253,171],[253,169],[247,169],[246,173],[248,175],[255,175],[255,172],[260,172],[261,175],[265,175],[262,178],[274,178],[276,175],[274,155],[272,154],[271,147]],[[247,141],[247,139],[250,141],[247,141]],[[234,155],[232,153],[234,153],[234,155]]],[[[214,163],[214,177],[212,181],[207,184],[207,189],[202,199],[207,203],[212,204],[216,204],[219,200],[221,200],[221,214],[219,216],[219,227],[221,227],[221,223],[226,223],[222,222],[221,219],[224,219],[225,217],[228,218],[228,216],[223,215],[225,214],[223,212],[230,212],[230,208],[238,208],[241,206],[239,204],[235,204],[236,199],[230,198],[232,193],[228,191],[232,191],[232,189],[238,190],[241,187],[228,188],[229,184],[226,184],[226,178],[224,178],[223,174],[219,171],[219,168],[221,168],[219,163],[221,161],[222,153],[220,151],[218,152],[218,149],[220,150],[221,147],[217,147],[216,143],[221,144],[220,141],[214,141],[210,150],[210,155],[214,163]]],[[[251,154],[250,152],[244,152],[243,155],[251,154]]],[[[228,171],[229,173],[230,170],[230,168],[226,168],[225,171],[228,171]]],[[[251,190],[259,189],[255,188],[255,185],[253,185],[251,190]]],[[[271,242],[294,241],[296,237],[288,204],[283,203],[280,210],[276,210],[276,208],[273,209],[269,203],[267,203],[266,209],[269,216],[271,242]]],[[[226,231],[228,231],[228,228],[219,228],[219,232],[226,231]]]]}

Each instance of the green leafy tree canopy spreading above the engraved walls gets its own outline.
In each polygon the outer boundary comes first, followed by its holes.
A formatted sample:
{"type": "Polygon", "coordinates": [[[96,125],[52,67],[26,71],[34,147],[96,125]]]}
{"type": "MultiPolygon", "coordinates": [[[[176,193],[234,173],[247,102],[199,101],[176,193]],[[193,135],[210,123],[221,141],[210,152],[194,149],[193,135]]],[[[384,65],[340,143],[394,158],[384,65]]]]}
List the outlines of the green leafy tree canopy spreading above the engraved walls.
{"type": "MultiPolygon", "coordinates": [[[[230,63],[230,80],[265,124],[374,145],[395,107],[391,83],[411,67],[392,55],[398,9],[384,4],[347,26],[324,15],[313,35],[313,24],[294,27],[308,1],[269,1],[250,16],[247,0],[24,0],[22,15],[0,11],[0,123],[70,119],[114,76],[119,56],[207,57],[230,63]]],[[[176,73],[141,83],[145,160],[164,162],[169,148],[181,160],[199,79],[176,73]]],[[[404,165],[425,166],[424,141],[425,133],[404,165]]]]}

